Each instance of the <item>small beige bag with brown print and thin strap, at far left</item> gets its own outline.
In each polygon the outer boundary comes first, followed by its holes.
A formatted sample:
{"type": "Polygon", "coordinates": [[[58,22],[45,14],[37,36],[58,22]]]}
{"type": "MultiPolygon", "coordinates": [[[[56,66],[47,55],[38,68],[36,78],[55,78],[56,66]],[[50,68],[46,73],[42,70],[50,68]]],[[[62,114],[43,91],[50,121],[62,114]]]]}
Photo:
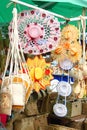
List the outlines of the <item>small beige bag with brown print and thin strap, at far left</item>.
{"type": "MultiPolygon", "coordinates": [[[[10,57],[10,49],[8,50],[7,60],[9,60],[9,57],[10,57]]],[[[6,67],[7,67],[7,63],[6,63],[6,67]]],[[[0,113],[6,114],[6,115],[11,115],[12,89],[9,88],[6,85],[5,86],[3,85],[4,84],[5,72],[4,72],[4,75],[3,75],[3,78],[2,78],[2,84],[1,84],[1,90],[0,90],[0,113]]]]}

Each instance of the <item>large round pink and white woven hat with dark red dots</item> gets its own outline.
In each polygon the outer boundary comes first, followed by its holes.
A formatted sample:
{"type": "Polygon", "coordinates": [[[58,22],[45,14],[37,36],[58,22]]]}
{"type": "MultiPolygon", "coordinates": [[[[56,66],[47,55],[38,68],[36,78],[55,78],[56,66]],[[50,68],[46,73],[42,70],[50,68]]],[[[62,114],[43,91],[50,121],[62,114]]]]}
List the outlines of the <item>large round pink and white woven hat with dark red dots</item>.
{"type": "MultiPolygon", "coordinates": [[[[54,50],[60,39],[58,19],[40,10],[26,10],[18,14],[19,46],[24,53],[39,55],[54,50]]],[[[9,37],[12,22],[9,26],[9,37]]],[[[11,40],[11,37],[10,37],[11,40]]]]}

